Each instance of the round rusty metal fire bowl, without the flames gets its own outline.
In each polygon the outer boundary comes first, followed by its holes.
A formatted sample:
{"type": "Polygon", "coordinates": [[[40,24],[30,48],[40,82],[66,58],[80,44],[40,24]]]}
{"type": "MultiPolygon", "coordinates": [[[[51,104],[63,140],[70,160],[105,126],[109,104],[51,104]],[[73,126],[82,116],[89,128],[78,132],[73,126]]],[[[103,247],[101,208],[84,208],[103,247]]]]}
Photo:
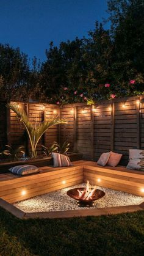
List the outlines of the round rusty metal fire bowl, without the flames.
{"type": "Polygon", "coordinates": [[[100,189],[96,189],[95,192],[95,196],[93,197],[93,199],[88,199],[88,200],[84,200],[84,199],[79,199],[79,192],[77,191],[77,189],[79,189],[80,191],[84,191],[85,188],[73,188],[67,191],[67,195],[75,200],[77,200],[77,205],[79,205],[80,207],[90,207],[93,206],[93,201],[100,199],[101,197],[105,196],[105,192],[100,190],[100,189]]]}

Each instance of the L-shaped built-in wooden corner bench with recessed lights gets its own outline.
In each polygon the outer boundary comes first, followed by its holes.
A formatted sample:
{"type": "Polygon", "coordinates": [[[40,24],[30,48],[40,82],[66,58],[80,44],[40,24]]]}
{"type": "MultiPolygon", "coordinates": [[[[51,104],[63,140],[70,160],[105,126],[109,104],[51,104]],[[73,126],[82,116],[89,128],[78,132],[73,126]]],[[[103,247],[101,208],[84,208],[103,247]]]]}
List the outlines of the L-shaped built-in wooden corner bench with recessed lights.
{"type": "Polygon", "coordinates": [[[143,196],[144,173],[124,166],[101,167],[92,161],[74,161],[71,167],[40,167],[40,173],[28,176],[0,174],[0,197],[9,203],[29,199],[89,180],[92,185],[143,196]],[[100,181],[98,180],[100,179],[100,181]]]}

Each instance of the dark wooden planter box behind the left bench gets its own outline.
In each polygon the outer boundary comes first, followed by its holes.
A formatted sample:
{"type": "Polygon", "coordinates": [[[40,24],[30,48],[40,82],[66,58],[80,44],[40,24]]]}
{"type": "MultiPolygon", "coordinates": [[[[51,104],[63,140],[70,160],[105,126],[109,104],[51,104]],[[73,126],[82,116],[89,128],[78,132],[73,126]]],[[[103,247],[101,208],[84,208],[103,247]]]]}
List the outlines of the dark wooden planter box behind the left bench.
{"type": "MultiPolygon", "coordinates": [[[[77,161],[82,159],[82,154],[78,153],[68,153],[71,161],[77,161]]],[[[5,172],[9,172],[9,169],[13,166],[19,166],[21,164],[32,164],[33,166],[42,167],[42,166],[52,166],[53,159],[51,156],[37,159],[29,159],[25,161],[12,161],[12,162],[3,162],[0,163],[0,174],[4,174],[5,172]]]]}

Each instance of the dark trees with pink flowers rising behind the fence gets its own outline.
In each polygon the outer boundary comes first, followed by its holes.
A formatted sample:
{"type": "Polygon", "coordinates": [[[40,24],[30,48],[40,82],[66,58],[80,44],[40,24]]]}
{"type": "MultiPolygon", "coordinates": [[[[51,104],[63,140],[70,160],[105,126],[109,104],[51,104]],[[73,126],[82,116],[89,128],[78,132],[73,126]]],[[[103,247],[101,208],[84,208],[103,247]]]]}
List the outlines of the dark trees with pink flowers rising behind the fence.
{"type": "Polygon", "coordinates": [[[107,12],[109,29],[96,21],[87,38],[51,42],[41,65],[0,45],[1,93],[57,104],[144,93],[144,1],[109,0],[107,12]]]}

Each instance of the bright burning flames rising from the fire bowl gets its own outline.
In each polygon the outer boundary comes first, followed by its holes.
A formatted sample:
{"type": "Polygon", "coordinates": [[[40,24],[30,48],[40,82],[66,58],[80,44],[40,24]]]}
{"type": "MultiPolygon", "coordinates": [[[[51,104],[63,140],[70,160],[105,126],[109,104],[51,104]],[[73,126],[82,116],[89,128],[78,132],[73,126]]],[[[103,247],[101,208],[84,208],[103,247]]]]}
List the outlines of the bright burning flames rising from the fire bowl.
{"type": "Polygon", "coordinates": [[[84,191],[80,191],[79,189],[77,189],[77,191],[79,192],[79,199],[82,199],[82,200],[93,199],[93,196],[95,196],[95,192],[96,192],[96,186],[94,188],[91,188],[90,182],[87,181],[86,189],[84,191]]]}

